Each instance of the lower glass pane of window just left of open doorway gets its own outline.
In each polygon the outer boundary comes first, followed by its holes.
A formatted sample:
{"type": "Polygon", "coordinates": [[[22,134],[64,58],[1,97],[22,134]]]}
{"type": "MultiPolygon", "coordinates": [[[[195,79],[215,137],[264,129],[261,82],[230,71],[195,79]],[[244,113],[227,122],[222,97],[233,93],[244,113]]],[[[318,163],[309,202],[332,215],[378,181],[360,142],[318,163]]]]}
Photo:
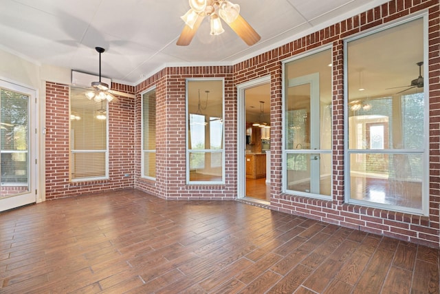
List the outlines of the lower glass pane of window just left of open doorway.
{"type": "Polygon", "coordinates": [[[190,152],[190,181],[221,181],[222,152],[190,152]]]}

